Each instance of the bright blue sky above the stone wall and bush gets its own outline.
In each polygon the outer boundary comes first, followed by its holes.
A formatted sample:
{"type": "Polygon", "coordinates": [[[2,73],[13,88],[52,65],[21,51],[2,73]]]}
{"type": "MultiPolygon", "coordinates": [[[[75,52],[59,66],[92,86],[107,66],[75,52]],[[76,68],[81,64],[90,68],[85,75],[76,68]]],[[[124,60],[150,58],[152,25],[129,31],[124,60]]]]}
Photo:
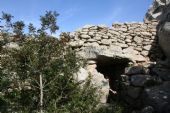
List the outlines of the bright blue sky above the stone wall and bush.
{"type": "Polygon", "coordinates": [[[153,0],[1,0],[0,12],[11,13],[16,20],[39,26],[45,11],[57,11],[60,32],[75,31],[86,24],[143,21],[153,0]]]}

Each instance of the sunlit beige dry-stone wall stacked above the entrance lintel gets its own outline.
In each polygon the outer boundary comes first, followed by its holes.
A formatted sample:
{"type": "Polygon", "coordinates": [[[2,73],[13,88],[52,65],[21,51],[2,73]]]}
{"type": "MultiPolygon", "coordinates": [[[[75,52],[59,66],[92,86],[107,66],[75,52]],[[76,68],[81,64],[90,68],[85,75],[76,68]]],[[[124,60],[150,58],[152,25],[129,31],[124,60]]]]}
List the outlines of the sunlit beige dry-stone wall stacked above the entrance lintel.
{"type": "Polygon", "coordinates": [[[70,45],[81,51],[85,47],[111,48],[121,54],[136,55],[139,61],[148,61],[155,42],[157,22],[114,23],[112,28],[103,25],[86,25],[71,33],[70,45]],[[142,60],[141,60],[142,59],[142,60]]]}

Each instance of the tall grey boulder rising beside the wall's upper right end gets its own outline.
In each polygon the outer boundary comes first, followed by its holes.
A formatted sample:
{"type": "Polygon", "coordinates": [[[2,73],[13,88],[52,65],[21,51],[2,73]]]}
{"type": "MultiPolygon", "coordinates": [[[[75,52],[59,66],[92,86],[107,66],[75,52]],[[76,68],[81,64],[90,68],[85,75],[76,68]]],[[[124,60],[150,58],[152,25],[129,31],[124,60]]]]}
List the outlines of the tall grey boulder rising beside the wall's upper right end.
{"type": "Polygon", "coordinates": [[[170,67],[170,0],[154,0],[146,14],[145,21],[152,19],[159,21],[157,26],[158,41],[166,56],[163,64],[170,67]]]}

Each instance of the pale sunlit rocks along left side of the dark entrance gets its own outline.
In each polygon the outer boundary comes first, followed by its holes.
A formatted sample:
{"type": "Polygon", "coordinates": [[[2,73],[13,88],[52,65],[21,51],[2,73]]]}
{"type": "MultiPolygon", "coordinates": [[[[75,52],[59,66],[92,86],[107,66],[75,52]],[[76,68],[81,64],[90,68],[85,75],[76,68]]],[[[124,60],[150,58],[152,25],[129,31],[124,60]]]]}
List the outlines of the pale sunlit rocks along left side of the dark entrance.
{"type": "Polygon", "coordinates": [[[109,81],[104,78],[104,75],[97,72],[94,65],[88,65],[87,69],[80,68],[79,72],[75,74],[74,79],[81,83],[81,85],[84,85],[89,76],[91,76],[92,84],[98,88],[96,93],[101,94],[100,103],[105,104],[109,95],[109,81]]]}

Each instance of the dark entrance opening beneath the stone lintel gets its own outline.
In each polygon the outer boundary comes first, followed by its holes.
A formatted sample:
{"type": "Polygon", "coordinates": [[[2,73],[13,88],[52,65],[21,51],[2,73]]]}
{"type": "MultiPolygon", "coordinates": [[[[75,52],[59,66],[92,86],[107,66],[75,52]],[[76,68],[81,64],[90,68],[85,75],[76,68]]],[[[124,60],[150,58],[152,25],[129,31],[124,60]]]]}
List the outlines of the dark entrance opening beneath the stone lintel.
{"type": "Polygon", "coordinates": [[[117,92],[116,94],[113,94],[111,91],[109,92],[108,103],[114,98],[121,98],[121,75],[124,74],[125,67],[128,66],[129,62],[128,58],[98,56],[97,71],[109,79],[111,90],[117,92]]]}

